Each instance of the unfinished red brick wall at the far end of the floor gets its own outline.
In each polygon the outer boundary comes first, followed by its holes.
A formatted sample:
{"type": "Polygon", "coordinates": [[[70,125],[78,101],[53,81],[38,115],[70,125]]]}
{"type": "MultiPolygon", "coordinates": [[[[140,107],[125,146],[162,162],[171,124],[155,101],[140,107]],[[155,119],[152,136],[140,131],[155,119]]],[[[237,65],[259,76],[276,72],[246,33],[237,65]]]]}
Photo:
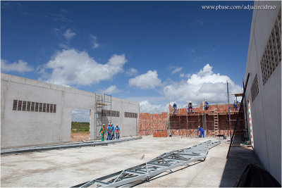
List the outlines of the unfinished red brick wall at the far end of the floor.
{"type": "MultiPolygon", "coordinates": [[[[207,136],[214,134],[228,135],[230,130],[233,132],[238,111],[231,108],[229,121],[227,104],[212,105],[209,108],[210,111],[194,108],[193,113],[187,113],[185,108],[180,108],[175,115],[172,113],[172,108],[170,108],[169,117],[168,113],[140,113],[140,134],[154,135],[154,137],[165,137],[168,134],[181,137],[197,136],[198,126],[204,127],[207,136]],[[218,132],[214,132],[216,119],[218,120],[218,132]]],[[[236,135],[247,137],[244,112],[240,113],[236,135]]]]}

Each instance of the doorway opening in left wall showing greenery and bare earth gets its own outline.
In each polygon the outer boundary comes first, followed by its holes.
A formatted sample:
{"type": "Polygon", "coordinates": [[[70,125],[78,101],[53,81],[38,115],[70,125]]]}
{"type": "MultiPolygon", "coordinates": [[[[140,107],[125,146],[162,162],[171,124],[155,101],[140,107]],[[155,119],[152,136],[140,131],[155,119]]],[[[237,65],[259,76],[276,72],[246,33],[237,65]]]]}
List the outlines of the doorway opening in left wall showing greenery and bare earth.
{"type": "Polygon", "coordinates": [[[90,139],[90,110],[73,108],[71,110],[71,142],[90,139]]]}

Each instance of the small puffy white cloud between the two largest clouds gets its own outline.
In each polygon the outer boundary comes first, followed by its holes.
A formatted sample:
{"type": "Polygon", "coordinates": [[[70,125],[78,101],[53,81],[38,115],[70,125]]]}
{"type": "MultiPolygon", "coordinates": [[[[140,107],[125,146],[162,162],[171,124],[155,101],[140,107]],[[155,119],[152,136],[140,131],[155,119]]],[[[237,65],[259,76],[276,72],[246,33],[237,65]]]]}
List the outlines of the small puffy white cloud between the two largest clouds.
{"type": "Polygon", "coordinates": [[[139,87],[141,89],[154,89],[156,86],[161,85],[161,80],[158,78],[157,70],[148,70],[147,73],[131,78],[129,86],[139,87]]]}

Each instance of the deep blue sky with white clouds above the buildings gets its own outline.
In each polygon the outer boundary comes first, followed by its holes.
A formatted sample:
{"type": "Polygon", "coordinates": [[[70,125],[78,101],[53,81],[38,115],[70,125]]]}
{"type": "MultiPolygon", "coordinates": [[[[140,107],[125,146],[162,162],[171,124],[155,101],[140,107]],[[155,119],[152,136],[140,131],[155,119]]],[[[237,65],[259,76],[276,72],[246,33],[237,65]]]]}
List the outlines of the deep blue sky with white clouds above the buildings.
{"type": "Polygon", "coordinates": [[[1,1],[1,73],[140,102],[142,112],[240,92],[252,1],[1,1]],[[224,92],[224,94],[223,94],[224,92]]]}

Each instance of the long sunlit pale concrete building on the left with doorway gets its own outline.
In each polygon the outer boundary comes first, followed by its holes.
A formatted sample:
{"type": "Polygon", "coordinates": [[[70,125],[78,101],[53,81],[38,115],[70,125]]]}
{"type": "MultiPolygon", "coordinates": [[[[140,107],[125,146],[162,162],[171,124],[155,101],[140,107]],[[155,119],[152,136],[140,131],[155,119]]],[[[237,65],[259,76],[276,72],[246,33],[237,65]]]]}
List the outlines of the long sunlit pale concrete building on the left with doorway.
{"type": "Polygon", "coordinates": [[[109,122],[137,135],[139,103],[106,97],[1,73],[1,149],[71,142],[73,108],[90,110],[90,139],[109,122]]]}

